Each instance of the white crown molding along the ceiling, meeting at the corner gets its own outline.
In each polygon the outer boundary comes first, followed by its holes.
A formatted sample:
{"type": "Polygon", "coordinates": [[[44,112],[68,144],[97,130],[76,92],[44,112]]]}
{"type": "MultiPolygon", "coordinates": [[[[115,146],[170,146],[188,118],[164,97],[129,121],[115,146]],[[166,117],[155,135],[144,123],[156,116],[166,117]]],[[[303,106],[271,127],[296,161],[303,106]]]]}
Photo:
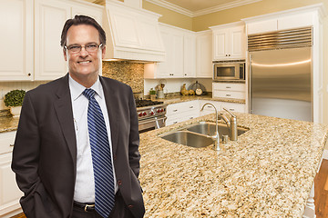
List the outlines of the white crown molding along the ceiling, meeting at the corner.
{"type": "Polygon", "coordinates": [[[159,5],[161,7],[167,8],[171,11],[177,12],[182,15],[195,17],[195,16],[199,16],[199,15],[208,15],[210,13],[230,9],[230,8],[241,6],[241,5],[248,5],[251,3],[261,2],[262,0],[236,0],[231,3],[205,8],[205,9],[202,9],[202,10],[199,10],[196,12],[192,12],[186,8],[180,7],[179,5],[171,4],[166,0],[146,0],[146,1],[151,4],[159,5]]]}

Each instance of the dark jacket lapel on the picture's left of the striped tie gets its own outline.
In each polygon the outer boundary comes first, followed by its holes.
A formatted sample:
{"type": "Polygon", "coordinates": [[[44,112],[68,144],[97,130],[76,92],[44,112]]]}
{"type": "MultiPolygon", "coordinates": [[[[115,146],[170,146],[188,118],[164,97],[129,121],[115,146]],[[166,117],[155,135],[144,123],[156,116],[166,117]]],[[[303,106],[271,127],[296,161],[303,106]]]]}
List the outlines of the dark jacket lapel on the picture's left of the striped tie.
{"type": "Polygon", "coordinates": [[[56,115],[64,134],[65,140],[67,142],[67,146],[69,152],[72,156],[74,169],[77,168],[77,139],[74,127],[73,120],[73,111],[72,111],[72,103],[71,96],[69,91],[68,84],[68,74],[64,76],[61,81],[58,89],[56,91],[56,96],[58,99],[55,101],[55,111],[56,115]]]}

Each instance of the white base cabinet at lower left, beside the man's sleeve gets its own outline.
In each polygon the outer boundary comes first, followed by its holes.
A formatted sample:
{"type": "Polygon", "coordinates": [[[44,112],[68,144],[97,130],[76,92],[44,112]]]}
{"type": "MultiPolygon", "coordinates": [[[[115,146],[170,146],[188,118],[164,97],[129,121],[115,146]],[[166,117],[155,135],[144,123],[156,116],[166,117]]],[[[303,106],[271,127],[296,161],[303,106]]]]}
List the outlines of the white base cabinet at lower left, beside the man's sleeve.
{"type": "Polygon", "coordinates": [[[15,131],[0,134],[0,217],[10,217],[21,212],[19,199],[23,193],[15,182],[11,170],[15,131]]]}

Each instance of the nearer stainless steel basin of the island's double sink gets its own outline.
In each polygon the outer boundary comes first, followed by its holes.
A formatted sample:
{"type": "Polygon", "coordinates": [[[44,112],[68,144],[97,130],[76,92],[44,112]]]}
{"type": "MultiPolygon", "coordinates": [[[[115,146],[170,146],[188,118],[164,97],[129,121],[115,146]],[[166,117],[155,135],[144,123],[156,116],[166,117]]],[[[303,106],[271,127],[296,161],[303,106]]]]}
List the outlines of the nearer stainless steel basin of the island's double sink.
{"type": "Polygon", "coordinates": [[[161,138],[176,144],[184,144],[196,148],[206,147],[210,144],[213,144],[213,140],[209,137],[201,134],[191,133],[185,130],[165,134],[162,135],[161,138]]]}

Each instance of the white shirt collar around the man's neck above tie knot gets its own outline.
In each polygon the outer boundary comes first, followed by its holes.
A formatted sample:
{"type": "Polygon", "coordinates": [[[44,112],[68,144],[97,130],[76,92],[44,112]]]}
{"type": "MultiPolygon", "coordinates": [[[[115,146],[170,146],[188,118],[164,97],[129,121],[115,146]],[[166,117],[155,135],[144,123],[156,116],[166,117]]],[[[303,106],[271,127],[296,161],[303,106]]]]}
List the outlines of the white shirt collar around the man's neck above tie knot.
{"type": "MultiPolygon", "coordinates": [[[[70,74],[68,76],[68,83],[69,83],[69,89],[71,91],[72,99],[73,99],[73,101],[75,101],[83,93],[83,91],[86,89],[86,87],[83,86],[82,84],[77,83],[77,81],[75,81],[70,76],[70,74]]],[[[95,90],[96,94],[100,98],[103,98],[103,92],[101,92],[102,86],[101,86],[101,83],[100,83],[100,80],[99,80],[99,76],[97,77],[96,83],[93,84],[90,88],[95,90]]]]}

